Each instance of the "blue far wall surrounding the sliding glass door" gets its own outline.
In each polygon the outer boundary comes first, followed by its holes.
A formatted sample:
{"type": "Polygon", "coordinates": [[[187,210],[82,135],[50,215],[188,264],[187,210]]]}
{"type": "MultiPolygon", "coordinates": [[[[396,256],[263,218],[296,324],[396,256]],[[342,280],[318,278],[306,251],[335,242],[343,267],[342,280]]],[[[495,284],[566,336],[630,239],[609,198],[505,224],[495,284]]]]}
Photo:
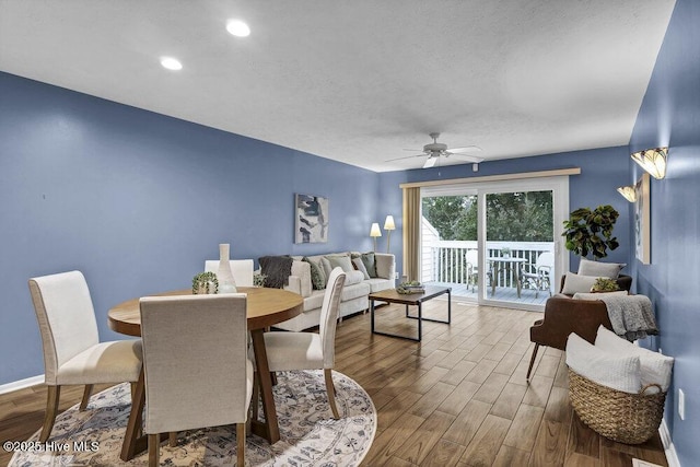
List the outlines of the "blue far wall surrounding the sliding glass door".
{"type": "MultiPolygon", "coordinates": [[[[380,174],[380,199],[387,213],[401,213],[401,192],[399,184],[451,178],[482,177],[522,172],[553,171],[581,167],[581,175],[569,177],[570,210],[600,205],[611,205],[620,213],[615,224],[615,235],[620,247],[610,252],[606,261],[630,264],[631,242],[629,202],[618,192],[617,187],[628,184],[629,151],[627,147],[575,151],[560,154],[538,155],[534,157],[509,159],[479,164],[479,172],[472,172],[471,164],[450,165],[445,167],[419,168],[415,171],[387,172],[380,174]]],[[[401,224],[402,226],[402,224],[401,224]]],[[[399,225],[397,225],[400,229],[399,225]]],[[[401,232],[394,235],[400,237],[401,232]]],[[[563,238],[562,238],[563,240],[563,238]]],[[[397,255],[397,271],[401,271],[401,245],[392,243],[392,252],[397,255]]],[[[570,255],[570,269],[579,269],[579,257],[570,255]]],[[[629,267],[622,272],[629,273],[629,267]]]]}

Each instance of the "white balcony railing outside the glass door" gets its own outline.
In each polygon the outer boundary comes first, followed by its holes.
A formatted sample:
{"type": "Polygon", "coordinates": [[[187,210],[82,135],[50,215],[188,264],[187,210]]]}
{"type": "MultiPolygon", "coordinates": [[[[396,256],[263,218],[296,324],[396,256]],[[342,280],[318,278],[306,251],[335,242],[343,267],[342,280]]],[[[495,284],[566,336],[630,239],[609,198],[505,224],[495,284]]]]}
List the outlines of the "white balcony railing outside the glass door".
{"type": "MultiPolygon", "coordinates": [[[[423,248],[422,278],[423,282],[451,282],[469,284],[476,267],[476,241],[433,241],[423,248]],[[472,253],[469,253],[472,252],[472,253]],[[474,264],[474,265],[472,265],[474,264]]],[[[486,257],[501,257],[504,248],[510,249],[512,258],[524,258],[524,264],[535,264],[537,257],[545,252],[555,250],[552,242],[487,242],[486,257]]],[[[487,271],[490,268],[486,261],[487,271]]],[[[495,287],[516,287],[513,270],[501,270],[495,280],[495,287]]],[[[491,285],[491,283],[488,283],[491,285]]]]}

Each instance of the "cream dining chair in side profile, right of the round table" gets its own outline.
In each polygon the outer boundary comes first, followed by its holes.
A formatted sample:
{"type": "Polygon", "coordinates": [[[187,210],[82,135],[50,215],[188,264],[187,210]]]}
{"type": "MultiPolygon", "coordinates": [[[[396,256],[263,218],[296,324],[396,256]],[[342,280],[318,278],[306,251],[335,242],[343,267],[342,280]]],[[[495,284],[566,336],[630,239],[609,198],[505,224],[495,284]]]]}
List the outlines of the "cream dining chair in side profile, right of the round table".
{"type": "Polygon", "coordinates": [[[265,349],[271,372],[290,370],[323,370],[326,381],[328,404],[336,419],[335,386],[331,370],[336,362],[336,325],[340,295],[346,281],[341,268],[335,268],[328,276],[326,292],[320,308],[320,325],[316,332],[265,332],[265,349]]]}

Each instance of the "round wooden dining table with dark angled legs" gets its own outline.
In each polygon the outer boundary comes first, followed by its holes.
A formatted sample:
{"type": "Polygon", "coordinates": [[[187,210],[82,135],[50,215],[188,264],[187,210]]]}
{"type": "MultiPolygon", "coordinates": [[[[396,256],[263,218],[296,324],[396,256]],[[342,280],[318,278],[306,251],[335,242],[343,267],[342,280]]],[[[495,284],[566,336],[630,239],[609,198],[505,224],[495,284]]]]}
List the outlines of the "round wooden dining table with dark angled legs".
{"type": "MultiPolygon", "coordinates": [[[[260,385],[260,399],[265,413],[265,421],[257,420],[257,413],[254,415],[252,431],[273,444],[280,439],[280,430],[272,397],[272,377],[267,362],[262,334],[266,328],[300,315],[303,311],[303,299],[298,293],[281,289],[240,287],[237,291],[247,294],[247,324],[253,340],[253,351],[260,385]]],[[[155,293],[152,296],[190,294],[191,290],[176,290],[155,293]]],[[[110,308],[107,313],[109,328],[128,336],[141,336],[139,300],[132,299],[110,308]]],[[[186,377],[186,375],[184,376],[186,377]]],[[[144,405],[145,378],[142,369],[133,392],[131,412],[129,413],[127,431],[121,446],[120,458],[125,462],[132,459],[133,456],[148,447],[147,436],[142,433],[144,405]]],[[[162,436],[167,436],[167,433],[163,433],[162,436]]]]}

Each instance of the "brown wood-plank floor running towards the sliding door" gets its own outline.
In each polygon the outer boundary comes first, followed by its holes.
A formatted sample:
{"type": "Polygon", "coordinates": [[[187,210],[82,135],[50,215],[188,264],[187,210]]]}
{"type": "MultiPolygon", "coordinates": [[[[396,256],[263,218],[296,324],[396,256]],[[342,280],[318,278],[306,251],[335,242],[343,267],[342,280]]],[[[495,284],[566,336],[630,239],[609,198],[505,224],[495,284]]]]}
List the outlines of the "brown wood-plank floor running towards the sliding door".
{"type": "MultiPolygon", "coordinates": [[[[445,301],[424,304],[444,318],[445,301]]],[[[416,332],[399,305],[377,310],[377,329],[416,332]]],[[[453,301],[451,326],[425,322],[423,341],[370,334],[370,315],[343,319],[336,370],[365,388],[378,411],[364,466],[631,466],[637,457],[667,466],[658,435],[629,446],[585,427],[569,404],[563,353],[540,351],[534,377],[525,373],[533,312],[453,301]]],[[[98,390],[98,389],[97,389],[98,390]]],[[[61,408],[82,388],[65,388],[61,408]]],[[[0,440],[22,441],[43,421],[46,389],[0,396],[0,440]]],[[[0,451],[0,465],[11,455],[0,451]]]]}

